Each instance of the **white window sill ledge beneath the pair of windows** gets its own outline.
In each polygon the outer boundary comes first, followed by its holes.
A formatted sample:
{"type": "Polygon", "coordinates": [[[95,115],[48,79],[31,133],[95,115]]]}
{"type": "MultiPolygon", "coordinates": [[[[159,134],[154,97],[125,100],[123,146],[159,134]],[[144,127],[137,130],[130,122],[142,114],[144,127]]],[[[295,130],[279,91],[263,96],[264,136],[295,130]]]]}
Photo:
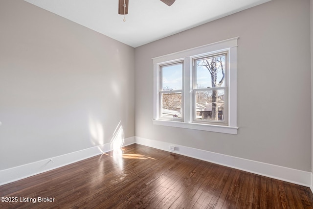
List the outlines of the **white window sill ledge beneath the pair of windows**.
{"type": "Polygon", "coordinates": [[[199,124],[199,123],[186,123],[179,121],[166,121],[153,119],[154,125],[172,126],[177,128],[188,128],[201,131],[212,131],[225,134],[237,134],[238,127],[211,125],[211,124],[199,124]]]}

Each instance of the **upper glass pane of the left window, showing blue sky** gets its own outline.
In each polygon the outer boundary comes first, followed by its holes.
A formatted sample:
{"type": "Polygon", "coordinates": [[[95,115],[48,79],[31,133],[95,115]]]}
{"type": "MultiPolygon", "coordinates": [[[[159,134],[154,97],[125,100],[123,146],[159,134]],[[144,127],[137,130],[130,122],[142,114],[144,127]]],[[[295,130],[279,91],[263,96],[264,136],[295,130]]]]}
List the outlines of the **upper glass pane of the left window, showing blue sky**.
{"type": "Polygon", "coordinates": [[[182,63],[161,67],[161,91],[182,89],[182,63]]]}

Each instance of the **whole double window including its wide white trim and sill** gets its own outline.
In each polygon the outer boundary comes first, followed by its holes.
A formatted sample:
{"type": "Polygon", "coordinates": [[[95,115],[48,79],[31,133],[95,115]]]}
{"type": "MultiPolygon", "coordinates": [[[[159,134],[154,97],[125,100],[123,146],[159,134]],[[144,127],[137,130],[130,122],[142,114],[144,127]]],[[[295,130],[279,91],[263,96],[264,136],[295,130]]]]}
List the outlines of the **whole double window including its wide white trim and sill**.
{"type": "Polygon", "coordinates": [[[154,124],[237,134],[237,39],[153,59],[154,124]]]}

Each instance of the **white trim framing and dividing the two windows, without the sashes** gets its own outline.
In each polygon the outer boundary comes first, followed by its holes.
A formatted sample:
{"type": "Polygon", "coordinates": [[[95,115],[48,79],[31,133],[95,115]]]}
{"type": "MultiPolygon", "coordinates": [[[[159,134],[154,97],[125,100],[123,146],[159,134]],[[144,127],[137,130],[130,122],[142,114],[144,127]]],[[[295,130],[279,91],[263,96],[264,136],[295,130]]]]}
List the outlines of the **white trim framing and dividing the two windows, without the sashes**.
{"type": "Polygon", "coordinates": [[[227,39],[209,45],[199,46],[176,53],[153,58],[154,65],[154,118],[155,125],[172,126],[179,128],[196,129],[202,131],[212,131],[227,134],[237,134],[237,40],[239,37],[227,39]],[[192,65],[193,58],[204,56],[219,51],[228,50],[229,68],[228,68],[228,125],[213,125],[194,123],[192,116],[192,65]],[[183,60],[184,78],[183,78],[183,121],[162,120],[159,118],[159,66],[183,60]],[[188,88],[186,88],[188,87],[188,88]]]}

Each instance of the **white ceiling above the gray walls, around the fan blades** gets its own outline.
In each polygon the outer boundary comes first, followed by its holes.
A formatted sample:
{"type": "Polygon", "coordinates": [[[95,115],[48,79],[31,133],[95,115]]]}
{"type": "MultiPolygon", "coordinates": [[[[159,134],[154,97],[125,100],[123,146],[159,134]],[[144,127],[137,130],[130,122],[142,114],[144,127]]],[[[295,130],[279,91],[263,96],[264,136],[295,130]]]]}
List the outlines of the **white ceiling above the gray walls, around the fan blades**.
{"type": "Polygon", "coordinates": [[[25,0],[129,46],[137,47],[269,0],[129,0],[128,15],[118,0],[25,0]]]}

